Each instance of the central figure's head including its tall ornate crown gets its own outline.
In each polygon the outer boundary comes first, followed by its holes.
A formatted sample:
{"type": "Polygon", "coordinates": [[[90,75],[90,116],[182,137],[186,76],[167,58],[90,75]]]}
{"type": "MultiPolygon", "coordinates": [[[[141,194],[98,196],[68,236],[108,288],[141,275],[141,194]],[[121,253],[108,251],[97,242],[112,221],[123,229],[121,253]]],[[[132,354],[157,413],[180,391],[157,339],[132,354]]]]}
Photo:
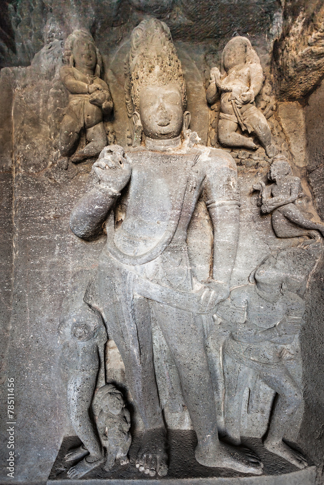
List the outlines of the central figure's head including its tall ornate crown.
{"type": "Polygon", "coordinates": [[[175,138],[188,128],[183,71],[164,22],[143,20],[134,29],[126,74],[128,116],[146,136],[175,138]]]}

